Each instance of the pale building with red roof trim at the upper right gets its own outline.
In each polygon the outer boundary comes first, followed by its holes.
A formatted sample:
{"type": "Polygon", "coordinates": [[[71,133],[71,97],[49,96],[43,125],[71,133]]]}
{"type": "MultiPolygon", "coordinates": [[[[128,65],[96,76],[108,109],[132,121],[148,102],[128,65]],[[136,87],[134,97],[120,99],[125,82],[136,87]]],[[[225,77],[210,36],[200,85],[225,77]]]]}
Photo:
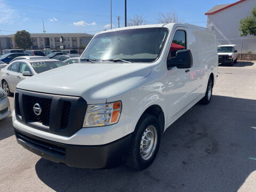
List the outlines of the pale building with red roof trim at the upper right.
{"type": "Polygon", "coordinates": [[[236,44],[238,52],[256,53],[256,36],[241,37],[241,31],[239,31],[239,20],[249,16],[255,5],[255,0],[215,5],[205,13],[207,28],[216,32],[219,44],[236,44]]]}

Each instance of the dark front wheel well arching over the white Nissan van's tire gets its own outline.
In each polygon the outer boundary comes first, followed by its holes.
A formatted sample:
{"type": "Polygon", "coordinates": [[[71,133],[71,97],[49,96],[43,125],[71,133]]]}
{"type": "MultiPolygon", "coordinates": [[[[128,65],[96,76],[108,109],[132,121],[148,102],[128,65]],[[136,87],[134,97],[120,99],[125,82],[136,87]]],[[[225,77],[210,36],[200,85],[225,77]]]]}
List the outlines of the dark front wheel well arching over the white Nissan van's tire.
{"type": "Polygon", "coordinates": [[[164,132],[164,112],[163,112],[163,110],[160,106],[152,105],[152,106],[148,107],[144,111],[143,114],[149,114],[149,115],[155,116],[159,121],[159,127],[160,127],[160,130],[161,130],[161,133],[164,132]]]}

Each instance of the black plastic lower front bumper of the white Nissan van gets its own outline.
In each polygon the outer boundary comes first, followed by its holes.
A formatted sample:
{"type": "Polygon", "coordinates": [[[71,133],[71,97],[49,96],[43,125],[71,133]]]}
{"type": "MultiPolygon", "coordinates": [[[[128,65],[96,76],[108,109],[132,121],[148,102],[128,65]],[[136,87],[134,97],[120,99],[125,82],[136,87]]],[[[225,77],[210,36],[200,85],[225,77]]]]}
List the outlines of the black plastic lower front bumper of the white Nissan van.
{"type": "Polygon", "coordinates": [[[56,163],[90,169],[110,169],[122,163],[131,134],[106,145],[68,145],[36,137],[14,127],[17,141],[31,152],[56,163]]]}

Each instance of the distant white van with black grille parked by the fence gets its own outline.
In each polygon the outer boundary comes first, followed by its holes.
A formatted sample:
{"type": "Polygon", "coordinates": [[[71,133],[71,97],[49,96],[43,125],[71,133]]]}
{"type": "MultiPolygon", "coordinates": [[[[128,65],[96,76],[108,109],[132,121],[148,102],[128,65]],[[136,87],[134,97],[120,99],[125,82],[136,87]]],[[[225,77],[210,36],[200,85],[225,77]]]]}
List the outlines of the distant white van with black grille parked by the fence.
{"type": "Polygon", "coordinates": [[[229,66],[233,66],[233,63],[237,62],[237,56],[237,45],[218,46],[219,63],[227,63],[229,66]]]}

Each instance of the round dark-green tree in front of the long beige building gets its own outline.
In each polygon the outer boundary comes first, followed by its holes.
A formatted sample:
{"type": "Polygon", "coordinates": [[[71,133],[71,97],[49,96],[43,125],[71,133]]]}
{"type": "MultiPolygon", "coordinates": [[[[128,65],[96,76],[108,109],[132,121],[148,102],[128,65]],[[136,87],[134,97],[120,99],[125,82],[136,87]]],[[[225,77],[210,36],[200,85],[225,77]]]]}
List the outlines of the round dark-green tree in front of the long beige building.
{"type": "Polygon", "coordinates": [[[32,46],[30,34],[26,30],[17,31],[14,35],[15,44],[21,49],[29,49],[32,46]]]}

